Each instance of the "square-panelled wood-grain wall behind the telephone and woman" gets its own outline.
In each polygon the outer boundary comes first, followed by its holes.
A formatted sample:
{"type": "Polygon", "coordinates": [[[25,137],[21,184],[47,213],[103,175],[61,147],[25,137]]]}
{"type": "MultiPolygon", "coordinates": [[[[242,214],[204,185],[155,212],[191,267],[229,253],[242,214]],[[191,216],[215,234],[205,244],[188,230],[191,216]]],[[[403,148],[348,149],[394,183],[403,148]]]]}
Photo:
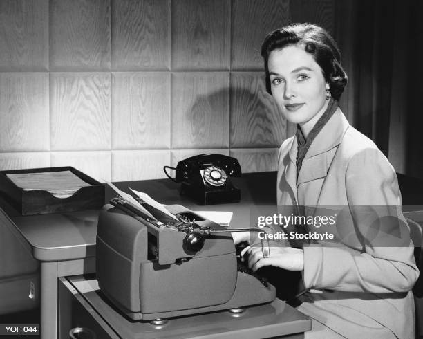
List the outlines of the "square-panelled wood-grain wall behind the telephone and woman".
{"type": "Polygon", "coordinates": [[[276,170],[292,127],[260,47],[306,20],[332,31],[332,0],[1,0],[0,170],[163,178],[208,152],[276,170]]]}

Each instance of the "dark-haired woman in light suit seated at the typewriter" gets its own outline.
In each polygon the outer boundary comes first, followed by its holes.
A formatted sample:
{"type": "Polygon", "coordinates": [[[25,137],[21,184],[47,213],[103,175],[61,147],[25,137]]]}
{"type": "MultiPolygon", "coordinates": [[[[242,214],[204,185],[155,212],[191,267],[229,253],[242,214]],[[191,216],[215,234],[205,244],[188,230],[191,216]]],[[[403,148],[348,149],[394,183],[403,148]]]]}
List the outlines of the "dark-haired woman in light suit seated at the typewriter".
{"type": "MultiPolygon", "coordinates": [[[[279,150],[278,205],[299,211],[344,205],[345,220],[352,222],[343,223],[348,237],[337,235],[342,246],[315,241],[302,248],[272,247],[268,257],[250,246],[249,266],[301,271],[306,293],[298,309],[313,318],[306,338],[414,338],[413,247],[375,246],[366,239],[365,217],[355,209],[401,206],[397,178],[382,152],[338,107],[347,77],[334,40],[319,26],[296,24],[267,35],[261,55],[267,90],[283,116],[297,124],[296,135],[279,150]]],[[[387,234],[400,231],[404,239],[409,229],[401,210],[398,220],[403,223],[391,224],[387,234]]],[[[247,239],[234,234],[236,243],[247,239]]]]}

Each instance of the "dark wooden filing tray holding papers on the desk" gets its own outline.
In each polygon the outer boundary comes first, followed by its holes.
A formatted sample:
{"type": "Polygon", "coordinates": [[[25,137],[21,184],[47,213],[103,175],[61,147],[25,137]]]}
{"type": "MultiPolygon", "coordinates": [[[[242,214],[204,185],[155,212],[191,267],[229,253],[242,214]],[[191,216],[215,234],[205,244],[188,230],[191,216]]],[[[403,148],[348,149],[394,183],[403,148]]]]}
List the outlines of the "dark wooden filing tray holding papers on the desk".
{"type": "Polygon", "coordinates": [[[73,212],[99,209],[104,205],[104,185],[74,167],[46,167],[30,170],[0,171],[0,194],[22,215],[73,212]],[[82,187],[68,198],[57,198],[44,190],[22,190],[6,174],[71,171],[90,186],[82,187]]]}

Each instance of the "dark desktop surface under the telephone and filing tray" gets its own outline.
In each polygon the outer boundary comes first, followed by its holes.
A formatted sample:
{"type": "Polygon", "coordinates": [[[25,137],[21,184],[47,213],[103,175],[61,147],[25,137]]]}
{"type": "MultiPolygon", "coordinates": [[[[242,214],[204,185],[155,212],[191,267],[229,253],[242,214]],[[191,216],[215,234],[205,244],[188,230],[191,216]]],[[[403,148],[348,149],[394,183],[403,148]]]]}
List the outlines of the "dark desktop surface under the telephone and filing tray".
{"type": "MultiPolygon", "coordinates": [[[[126,181],[115,185],[129,192],[128,187],[145,192],[160,203],[184,205],[191,210],[234,212],[231,226],[247,227],[250,224],[252,205],[271,205],[276,202],[276,172],[243,174],[233,178],[241,189],[241,202],[217,205],[198,205],[188,196],[180,195],[180,184],[169,179],[126,181]]],[[[106,201],[117,196],[106,187],[106,201]]],[[[28,242],[35,259],[61,261],[82,259],[95,255],[95,236],[99,210],[84,210],[62,214],[21,216],[6,201],[0,200],[2,221],[28,242]]]]}

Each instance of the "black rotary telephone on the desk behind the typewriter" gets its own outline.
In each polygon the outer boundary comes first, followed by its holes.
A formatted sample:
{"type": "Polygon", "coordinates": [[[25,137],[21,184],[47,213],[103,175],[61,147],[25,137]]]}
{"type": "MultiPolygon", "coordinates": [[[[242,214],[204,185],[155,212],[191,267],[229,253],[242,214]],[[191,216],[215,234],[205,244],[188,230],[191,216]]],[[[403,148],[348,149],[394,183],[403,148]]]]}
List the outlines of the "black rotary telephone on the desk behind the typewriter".
{"type": "Polygon", "coordinates": [[[181,194],[187,194],[199,203],[209,205],[239,201],[241,191],[232,184],[231,176],[241,176],[241,166],[236,158],[222,154],[191,156],[175,167],[164,166],[164,173],[181,184],[181,194]],[[167,169],[175,170],[172,178],[167,169]]]}

